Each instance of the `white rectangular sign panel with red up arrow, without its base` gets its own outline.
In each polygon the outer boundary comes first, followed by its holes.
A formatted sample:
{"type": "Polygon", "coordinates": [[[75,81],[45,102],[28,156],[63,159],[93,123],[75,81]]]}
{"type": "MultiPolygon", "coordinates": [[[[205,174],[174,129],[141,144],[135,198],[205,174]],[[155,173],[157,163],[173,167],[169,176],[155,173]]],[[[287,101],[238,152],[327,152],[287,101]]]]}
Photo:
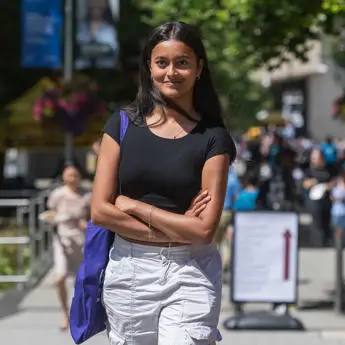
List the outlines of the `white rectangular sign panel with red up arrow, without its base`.
{"type": "Polygon", "coordinates": [[[234,231],[232,300],[296,302],[297,214],[238,212],[234,231]]]}

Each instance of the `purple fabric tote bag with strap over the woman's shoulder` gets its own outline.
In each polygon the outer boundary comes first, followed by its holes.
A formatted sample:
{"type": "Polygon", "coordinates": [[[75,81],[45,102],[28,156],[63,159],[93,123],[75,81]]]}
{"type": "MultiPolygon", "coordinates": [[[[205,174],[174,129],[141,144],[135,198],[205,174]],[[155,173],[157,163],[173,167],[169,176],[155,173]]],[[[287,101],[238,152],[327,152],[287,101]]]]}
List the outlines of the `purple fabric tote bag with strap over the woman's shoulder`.
{"type": "MultiPolygon", "coordinates": [[[[128,127],[128,117],[120,112],[120,147],[128,127]]],[[[75,280],[70,310],[70,332],[76,344],[81,344],[104,331],[107,315],[102,304],[104,273],[115,234],[108,229],[87,224],[84,260],[75,280]]]]}

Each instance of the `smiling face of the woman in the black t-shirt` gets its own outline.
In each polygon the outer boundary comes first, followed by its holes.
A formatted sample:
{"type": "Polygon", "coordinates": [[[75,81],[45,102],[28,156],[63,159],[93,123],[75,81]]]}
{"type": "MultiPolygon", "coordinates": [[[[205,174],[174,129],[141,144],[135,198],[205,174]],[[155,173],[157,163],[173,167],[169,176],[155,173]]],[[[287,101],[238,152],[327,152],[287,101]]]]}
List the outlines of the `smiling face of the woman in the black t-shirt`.
{"type": "Polygon", "coordinates": [[[151,53],[153,85],[166,98],[192,97],[203,61],[185,43],[168,40],[158,43],[151,53]]]}

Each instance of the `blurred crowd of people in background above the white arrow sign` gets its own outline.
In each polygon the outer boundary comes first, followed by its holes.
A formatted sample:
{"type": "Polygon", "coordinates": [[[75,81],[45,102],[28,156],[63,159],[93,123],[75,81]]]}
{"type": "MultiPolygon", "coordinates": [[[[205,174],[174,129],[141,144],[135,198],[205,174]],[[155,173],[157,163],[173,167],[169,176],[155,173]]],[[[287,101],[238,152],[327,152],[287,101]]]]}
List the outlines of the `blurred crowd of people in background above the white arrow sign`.
{"type": "Polygon", "coordinates": [[[332,245],[333,230],[345,230],[344,143],[331,137],[321,143],[287,139],[278,131],[237,142],[241,168],[229,168],[217,242],[234,211],[272,210],[310,214],[311,244],[332,245]]]}

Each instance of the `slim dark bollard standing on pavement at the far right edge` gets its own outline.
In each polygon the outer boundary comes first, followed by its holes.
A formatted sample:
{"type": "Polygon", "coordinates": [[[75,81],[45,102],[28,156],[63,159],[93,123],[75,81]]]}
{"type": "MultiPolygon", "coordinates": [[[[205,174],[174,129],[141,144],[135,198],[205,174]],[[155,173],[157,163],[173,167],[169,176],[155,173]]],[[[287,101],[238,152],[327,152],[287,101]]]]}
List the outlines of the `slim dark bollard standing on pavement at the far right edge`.
{"type": "Polygon", "coordinates": [[[335,301],[334,309],[337,313],[343,313],[343,233],[335,230],[335,301]]]}

